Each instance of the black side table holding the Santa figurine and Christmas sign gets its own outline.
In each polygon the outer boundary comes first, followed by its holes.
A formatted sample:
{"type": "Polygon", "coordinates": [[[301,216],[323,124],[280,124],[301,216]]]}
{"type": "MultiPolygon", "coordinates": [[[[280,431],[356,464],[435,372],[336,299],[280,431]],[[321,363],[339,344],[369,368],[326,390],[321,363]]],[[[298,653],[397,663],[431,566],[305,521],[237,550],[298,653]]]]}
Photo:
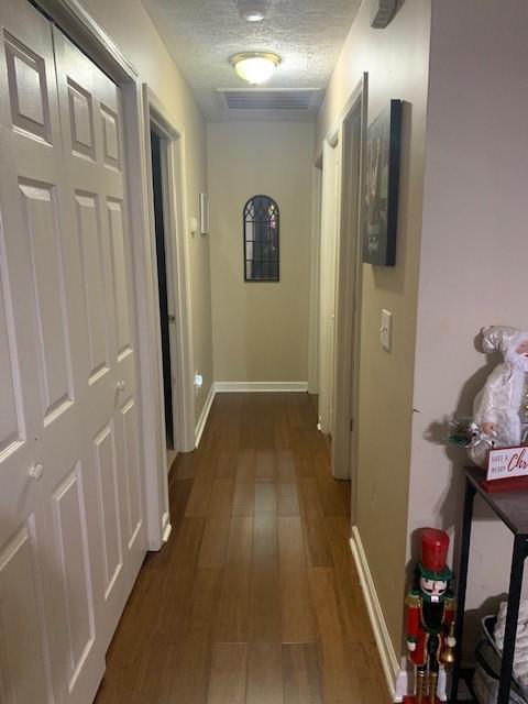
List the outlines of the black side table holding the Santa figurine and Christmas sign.
{"type": "Polygon", "coordinates": [[[457,659],[453,667],[451,704],[457,704],[458,701],[460,657],[462,651],[461,645],[464,632],[468,563],[470,560],[471,522],[473,518],[473,503],[476,494],[482,496],[490,508],[514,534],[512,572],[509,576],[508,613],[506,615],[506,632],[504,637],[497,704],[508,704],[509,690],[512,686],[517,619],[519,616],[520,590],[522,587],[522,571],[525,560],[528,557],[528,491],[487,494],[480,485],[480,480],[482,479],[484,479],[484,473],[479,468],[465,469],[464,516],[462,521],[462,539],[457,590],[457,659]]]}

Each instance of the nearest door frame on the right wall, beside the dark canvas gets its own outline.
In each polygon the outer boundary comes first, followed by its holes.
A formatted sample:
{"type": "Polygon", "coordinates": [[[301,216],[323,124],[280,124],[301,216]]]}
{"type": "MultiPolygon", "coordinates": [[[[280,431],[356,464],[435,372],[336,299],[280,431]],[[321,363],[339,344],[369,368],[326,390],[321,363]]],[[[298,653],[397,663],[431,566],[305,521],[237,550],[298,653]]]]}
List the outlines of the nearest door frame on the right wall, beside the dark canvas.
{"type": "MultiPolygon", "coordinates": [[[[363,145],[366,130],[367,75],[365,74],[346,101],[340,118],[341,179],[340,227],[337,246],[336,286],[336,363],[334,414],[332,418],[332,474],[337,479],[355,480],[358,451],[359,359],[362,292],[362,220],[363,220],[363,145]],[[355,120],[359,132],[358,182],[351,183],[351,144],[349,140],[355,120]],[[346,153],[350,152],[350,153],[346,153]],[[356,189],[352,212],[350,200],[356,189]]],[[[355,488],[355,487],[354,487],[355,488]]],[[[355,496],[355,491],[353,491],[355,496]]]]}

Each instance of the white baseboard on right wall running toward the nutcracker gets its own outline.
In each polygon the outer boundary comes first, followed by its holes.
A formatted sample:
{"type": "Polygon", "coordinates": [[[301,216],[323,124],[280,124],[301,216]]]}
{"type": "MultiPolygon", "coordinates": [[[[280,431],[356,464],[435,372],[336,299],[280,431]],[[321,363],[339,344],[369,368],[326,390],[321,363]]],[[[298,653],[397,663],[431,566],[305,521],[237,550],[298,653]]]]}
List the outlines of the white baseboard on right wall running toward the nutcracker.
{"type": "MultiPolygon", "coordinates": [[[[404,696],[413,691],[413,675],[407,670],[405,664],[406,661],[403,660],[400,663],[396,652],[394,651],[393,642],[388,635],[387,625],[383,615],[382,605],[377,597],[374,580],[372,579],[371,569],[369,566],[365,550],[356,526],[353,526],[352,528],[350,548],[360,575],[361,588],[363,590],[366,610],[369,612],[369,617],[371,619],[388,691],[391,692],[393,702],[403,702],[404,696]]],[[[448,700],[446,690],[446,670],[442,668],[440,669],[438,678],[438,698],[441,702],[447,702],[448,700]]]]}

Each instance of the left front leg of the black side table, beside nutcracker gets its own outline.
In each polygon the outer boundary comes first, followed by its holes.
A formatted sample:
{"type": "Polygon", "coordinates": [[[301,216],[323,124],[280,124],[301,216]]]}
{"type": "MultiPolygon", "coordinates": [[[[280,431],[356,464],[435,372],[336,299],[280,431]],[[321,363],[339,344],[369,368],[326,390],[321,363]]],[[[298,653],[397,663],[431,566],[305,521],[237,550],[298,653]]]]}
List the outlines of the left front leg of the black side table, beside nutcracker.
{"type": "Polygon", "coordinates": [[[465,592],[468,587],[468,564],[470,562],[471,521],[473,518],[473,503],[475,494],[475,487],[466,479],[464,513],[462,517],[462,538],[460,541],[459,570],[457,574],[457,622],[454,632],[454,637],[457,638],[457,657],[453,666],[453,676],[451,683],[451,704],[457,703],[457,697],[459,694],[460,659],[462,654],[462,636],[464,632],[465,592]]]}

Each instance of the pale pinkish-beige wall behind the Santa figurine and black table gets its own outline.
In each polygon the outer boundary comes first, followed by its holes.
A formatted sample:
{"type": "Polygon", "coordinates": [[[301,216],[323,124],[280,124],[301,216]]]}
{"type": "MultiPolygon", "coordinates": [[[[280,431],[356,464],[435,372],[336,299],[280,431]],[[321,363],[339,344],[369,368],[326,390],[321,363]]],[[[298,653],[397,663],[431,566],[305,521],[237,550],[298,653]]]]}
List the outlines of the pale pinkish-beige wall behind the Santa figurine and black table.
{"type": "MultiPolygon", "coordinates": [[[[465,452],[439,441],[497,361],[475,336],[528,327],[528,4],[433,0],[432,19],[409,535],[460,526],[465,452]]],[[[468,607],[493,612],[512,540],[481,502],[475,509],[468,607]]]]}

